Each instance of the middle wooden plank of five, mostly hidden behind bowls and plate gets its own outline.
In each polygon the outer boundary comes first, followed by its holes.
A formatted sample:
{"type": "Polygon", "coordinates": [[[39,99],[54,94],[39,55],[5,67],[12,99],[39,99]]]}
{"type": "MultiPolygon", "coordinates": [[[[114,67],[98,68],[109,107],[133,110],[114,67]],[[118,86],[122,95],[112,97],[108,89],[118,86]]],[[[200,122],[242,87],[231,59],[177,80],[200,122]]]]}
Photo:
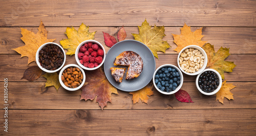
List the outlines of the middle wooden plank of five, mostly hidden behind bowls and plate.
{"type": "MultiPolygon", "coordinates": [[[[9,78],[10,81],[27,81],[26,79],[20,79],[23,77],[24,71],[33,65],[35,62],[27,65],[28,58],[19,58],[20,55],[0,55],[0,70],[6,72],[0,72],[1,77],[9,78]],[[15,73],[15,74],[13,74],[15,73]]],[[[163,64],[177,64],[178,55],[159,55],[159,60],[156,59],[156,68],[163,64]]],[[[256,55],[230,55],[226,61],[232,61],[237,66],[233,69],[233,72],[225,72],[225,79],[228,81],[256,81],[256,55]],[[249,71],[249,72],[248,72],[249,71]]],[[[74,56],[67,56],[65,65],[77,64],[74,56]]],[[[194,81],[196,76],[188,76],[183,74],[184,81],[194,81]]],[[[4,79],[1,78],[0,81],[4,79]]],[[[44,77],[39,77],[35,81],[46,81],[44,77]]]]}

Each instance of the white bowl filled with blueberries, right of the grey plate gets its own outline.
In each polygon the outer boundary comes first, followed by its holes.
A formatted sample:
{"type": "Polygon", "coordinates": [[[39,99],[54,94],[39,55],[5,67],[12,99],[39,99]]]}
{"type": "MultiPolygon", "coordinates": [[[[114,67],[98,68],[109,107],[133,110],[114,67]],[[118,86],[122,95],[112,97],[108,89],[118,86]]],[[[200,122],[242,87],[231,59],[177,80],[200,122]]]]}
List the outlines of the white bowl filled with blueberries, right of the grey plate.
{"type": "Polygon", "coordinates": [[[174,94],[183,84],[183,75],[180,69],[172,64],[165,64],[156,69],[153,75],[153,84],[162,94],[174,94]]]}

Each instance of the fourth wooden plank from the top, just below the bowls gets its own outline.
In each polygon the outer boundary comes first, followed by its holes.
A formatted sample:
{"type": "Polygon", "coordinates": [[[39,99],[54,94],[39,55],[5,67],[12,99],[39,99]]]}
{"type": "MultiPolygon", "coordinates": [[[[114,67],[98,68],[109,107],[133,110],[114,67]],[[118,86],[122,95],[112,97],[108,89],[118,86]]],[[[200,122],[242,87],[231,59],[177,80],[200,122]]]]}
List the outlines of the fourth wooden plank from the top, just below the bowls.
{"type": "MultiPolygon", "coordinates": [[[[224,98],[224,104],[216,101],[216,95],[201,94],[194,82],[186,82],[181,89],[186,90],[194,103],[179,102],[175,95],[163,95],[153,87],[154,95],[148,97],[148,103],[133,104],[132,95],[118,90],[112,94],[112,103],[104,110],[167,110],[167,109],[225,109],[225,108],[256,108],[256,84],[253,82],[228,82],[237,86],[230,92],[234,100],[224,98]]],[[[1,83],[4,85],[4,83],[1,83]]],[[[41,82],[9,82],[9,109],[69,109],[69,110],[101,110],[96,100],[80,100],[81,90],[67,91],[62,87],[58,92],[54,87],[45,88],[41,82]]],[[[4,96],[4,91],[0,92],[4,96]]],[[[4,101],[4,97],[0,97],[4,101]]]]}

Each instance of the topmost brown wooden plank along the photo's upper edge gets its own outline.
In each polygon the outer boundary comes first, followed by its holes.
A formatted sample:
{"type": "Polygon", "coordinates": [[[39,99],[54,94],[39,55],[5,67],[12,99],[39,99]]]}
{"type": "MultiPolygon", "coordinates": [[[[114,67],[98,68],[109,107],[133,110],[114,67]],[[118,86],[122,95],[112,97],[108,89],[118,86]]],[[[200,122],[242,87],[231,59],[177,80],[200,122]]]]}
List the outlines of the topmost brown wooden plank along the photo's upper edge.
{"type": "Polygon", "coordinates": [[[0,26],[256,26],[255,1],[2,1],[0,26]],[[60,6],[61,5],[61,6],[60,6]],[[206,23],[207,22],[207,23],[206,23]]]}

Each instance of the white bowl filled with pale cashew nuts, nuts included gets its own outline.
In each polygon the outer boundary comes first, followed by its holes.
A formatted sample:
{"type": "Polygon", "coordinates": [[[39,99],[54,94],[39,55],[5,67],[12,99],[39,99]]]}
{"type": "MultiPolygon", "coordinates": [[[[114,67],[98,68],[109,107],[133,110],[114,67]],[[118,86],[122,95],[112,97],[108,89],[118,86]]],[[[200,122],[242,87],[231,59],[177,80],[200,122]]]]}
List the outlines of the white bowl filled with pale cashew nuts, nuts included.
{"type": "Polygon", "coordinates": [[[203,48],[189,45],[180,51],[177,62],[183,73],[198,75],[206,68],[207,55],[203,48]]]}

